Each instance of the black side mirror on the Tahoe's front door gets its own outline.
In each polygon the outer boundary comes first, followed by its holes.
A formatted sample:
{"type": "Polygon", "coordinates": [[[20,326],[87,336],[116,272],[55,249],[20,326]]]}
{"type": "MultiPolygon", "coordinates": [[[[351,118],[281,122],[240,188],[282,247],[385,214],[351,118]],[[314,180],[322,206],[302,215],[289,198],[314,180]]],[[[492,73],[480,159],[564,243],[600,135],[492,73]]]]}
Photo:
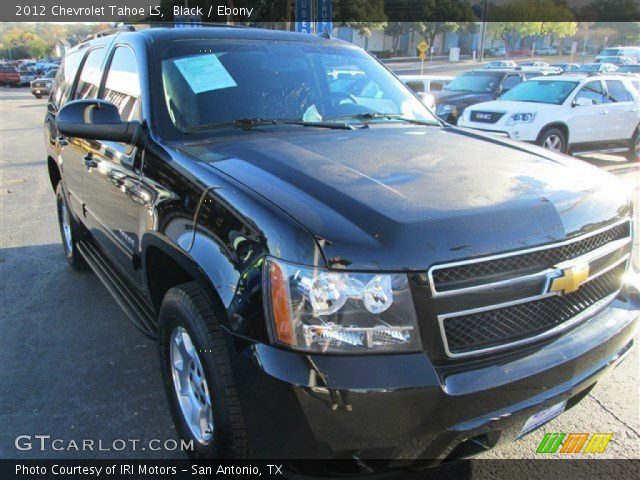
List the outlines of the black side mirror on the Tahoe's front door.
{"type": "Polygon", "coordinates": [[[139,122],[123,122],[113,103],[98,99],[67,103],[58,112],[56,124],[60,133],[68,137],[131,144],[140,130],[139,122]]]}

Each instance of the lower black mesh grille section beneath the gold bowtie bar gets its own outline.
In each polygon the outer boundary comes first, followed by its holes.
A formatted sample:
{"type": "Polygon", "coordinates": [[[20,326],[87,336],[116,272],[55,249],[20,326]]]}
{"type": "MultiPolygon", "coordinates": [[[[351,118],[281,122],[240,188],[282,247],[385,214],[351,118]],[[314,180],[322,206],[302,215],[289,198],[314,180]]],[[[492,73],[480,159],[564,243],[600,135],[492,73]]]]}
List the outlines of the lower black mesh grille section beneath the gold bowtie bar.
{"type": "Polygon", "coordinates": [[[568,295],[556,295],[448,318],[443,326],[449,352],[461,354],[535,337],[575,318],[620,289],[621,264],[568,295]]]}

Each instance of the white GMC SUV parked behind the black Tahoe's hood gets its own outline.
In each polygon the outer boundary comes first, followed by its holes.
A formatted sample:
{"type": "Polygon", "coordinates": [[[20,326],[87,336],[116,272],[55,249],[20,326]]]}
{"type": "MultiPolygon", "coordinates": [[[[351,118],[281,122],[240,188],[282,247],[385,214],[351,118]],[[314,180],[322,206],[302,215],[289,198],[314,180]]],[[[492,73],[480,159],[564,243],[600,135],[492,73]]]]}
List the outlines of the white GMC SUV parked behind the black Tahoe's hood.
{"type": "Polygon", "coordinates": [[[467,108],[459,127],[507,134],[562,153],[640,157],[640,93],[624,75],[535,77],[467,108]]]}

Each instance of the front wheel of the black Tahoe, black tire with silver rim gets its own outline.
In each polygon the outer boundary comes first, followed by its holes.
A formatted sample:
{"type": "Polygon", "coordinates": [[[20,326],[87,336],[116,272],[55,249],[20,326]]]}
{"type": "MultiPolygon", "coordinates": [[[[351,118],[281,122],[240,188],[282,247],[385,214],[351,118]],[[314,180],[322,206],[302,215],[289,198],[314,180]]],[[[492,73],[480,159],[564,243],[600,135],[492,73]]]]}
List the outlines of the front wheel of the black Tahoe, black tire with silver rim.
{"type": "Polygon", "coordinates": [[[165,392],[179,435],[196,459],[246,458],[244,417],[218,311],[196,283],[162,301],[158,340],[165,392]]]}

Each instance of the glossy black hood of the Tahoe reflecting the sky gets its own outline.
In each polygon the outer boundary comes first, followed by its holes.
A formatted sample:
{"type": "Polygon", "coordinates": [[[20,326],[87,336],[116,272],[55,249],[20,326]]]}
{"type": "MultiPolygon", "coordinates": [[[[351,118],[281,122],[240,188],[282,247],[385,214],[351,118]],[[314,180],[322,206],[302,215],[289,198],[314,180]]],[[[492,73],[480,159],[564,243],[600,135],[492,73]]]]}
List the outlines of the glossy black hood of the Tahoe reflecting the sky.
{"type": "Polygon", "coordinates": [[[565,239],[629,208],[596,167],[450,127],[254,129],[177,148],[287,212],[331,266],[425,269],[565,239]]]}

